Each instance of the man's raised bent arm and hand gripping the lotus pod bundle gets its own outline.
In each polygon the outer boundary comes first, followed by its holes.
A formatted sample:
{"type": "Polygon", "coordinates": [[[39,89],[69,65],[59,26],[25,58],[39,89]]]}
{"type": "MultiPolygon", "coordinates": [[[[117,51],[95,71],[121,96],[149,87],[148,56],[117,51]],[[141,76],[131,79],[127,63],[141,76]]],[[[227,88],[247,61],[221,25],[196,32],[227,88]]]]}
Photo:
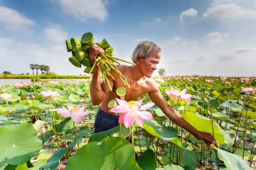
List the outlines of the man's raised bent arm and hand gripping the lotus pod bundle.
{"type": "MultiPolygon", "coordinates": [[[[104,50],[100,47],[93,46],[89,48],[89,58],[92,64],[95,63],[96,56],[100,53],[104,52],[104,50]]],[[[107,77],[111,87],[114,86],[114,81],[111,77],[107,77]]],[[[106,97],[107,93],[110,92],[109,86],[107,82],[100,82],[100,67],[95,66],[92,74],[92,81],[90,84],[90,96],[93,105],[98,105],[102,103],[103,99],[106,97]]]]}

